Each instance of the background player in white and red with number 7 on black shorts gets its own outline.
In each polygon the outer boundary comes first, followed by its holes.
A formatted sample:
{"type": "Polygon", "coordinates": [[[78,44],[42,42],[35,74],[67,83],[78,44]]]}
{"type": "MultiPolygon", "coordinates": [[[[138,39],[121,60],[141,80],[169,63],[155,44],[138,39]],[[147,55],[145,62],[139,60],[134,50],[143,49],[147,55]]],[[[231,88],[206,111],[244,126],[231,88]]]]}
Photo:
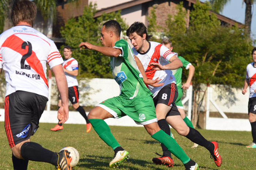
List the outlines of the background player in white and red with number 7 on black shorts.
{"type": "MultiPolygon", "coordinates": [[[[76,109],[86,121],[86,132],[91,131],[91,124],[86,116],[86,113],[82,106],[79,105],[79,91],[78,91],[78,81],[76,76],[78,76],[78,61],[75,58],[71,57],[72,49],[71,46],[65,45],[63,49],[63,54],[65,57],[63,63],[63,70],[65,72],[67,82],[68,82],[68,98],[72,103],[74,109],[76,109]]],[[[59,97],[58,106],[61,106],[61,98],[59,97]]],[[[54,128],[50,129],[51,131],[59,131],[63,129],[62,123],[57,124],[54,128]]]]}

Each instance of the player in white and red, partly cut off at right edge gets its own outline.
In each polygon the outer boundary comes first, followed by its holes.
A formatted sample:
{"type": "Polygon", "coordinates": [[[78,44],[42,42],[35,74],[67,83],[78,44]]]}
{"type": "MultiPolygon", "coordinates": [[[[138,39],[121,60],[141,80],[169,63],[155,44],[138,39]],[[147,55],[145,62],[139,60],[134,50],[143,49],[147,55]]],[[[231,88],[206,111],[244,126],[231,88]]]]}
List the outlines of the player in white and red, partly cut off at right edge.
{"type": "Polygon", "coordinates": [[[246,77],[242,94],[247,92],[246,88],[250,86],[250,97],[248,102],[249,121],[252,126],[252,143],[246,147],[256,148],[256,47],[252,50],[253,62],[246,67],[246,77]]]}

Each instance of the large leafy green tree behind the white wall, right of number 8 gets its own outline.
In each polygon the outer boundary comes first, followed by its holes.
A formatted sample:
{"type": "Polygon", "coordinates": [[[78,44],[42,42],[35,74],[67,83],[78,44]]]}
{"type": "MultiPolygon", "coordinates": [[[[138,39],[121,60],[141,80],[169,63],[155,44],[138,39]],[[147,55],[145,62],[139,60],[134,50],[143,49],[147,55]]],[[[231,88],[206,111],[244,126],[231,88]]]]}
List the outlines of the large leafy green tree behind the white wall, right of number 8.
{"type": "MultiPolygon", "coordinates": [[[[180,3],[177,6],[178,14],[169,16],[166,20],[166,36],[173,42],[174,52],[178,52],[195,66],[192,79],[194,89],[192,123],[195,126],[200,106],[206,96],[206,88],[203,88],[203,84],[243,86],[246,65],[251,62],[252,42],[244,29],[239,29],[237,26],[221,26],[217,16],[210,14],[209,10],[212,8],[208,2],[201,4],[197,1],[194,4],[187,30],[182,6],[180,3]]],[[[187,77],[183,76],[184,78],[187,77]]]]}

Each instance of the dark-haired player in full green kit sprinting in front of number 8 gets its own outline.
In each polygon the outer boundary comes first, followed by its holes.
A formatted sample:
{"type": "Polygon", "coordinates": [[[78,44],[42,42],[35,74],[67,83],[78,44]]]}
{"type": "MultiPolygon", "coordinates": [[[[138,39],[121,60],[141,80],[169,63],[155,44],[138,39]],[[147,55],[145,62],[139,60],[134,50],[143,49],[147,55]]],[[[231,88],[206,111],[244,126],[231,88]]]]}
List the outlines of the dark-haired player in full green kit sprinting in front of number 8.
{"type": "Polygon", "coordinates": [[[188,158],[176,141],[159,128],[152,93],[144,83],[151,86],[162,86],[162,84],[157,84],[158,79],[147,79],[142,63],[140,63],[138,57],[133,56],[129,44],[120,39],[120,34],[120,24],[115,20],[110,20],[104,23],[101,29],[103,47],[91,45],[88,42],[82,42],[79,45],[80,49],[82,47],[90,50],[94,49],[112,57],[110,65],[113,77],[121,90],[118,97],[103,101],[88,114],[88,119],[94,130],[115,152],[109,166],[116,167],[120,165],[123,160],[127,159],[129,153],[118,144],[104,120],[110,117],[119,118],[128,115],[137,124],[144,125],[151,137],[163,143],[170,152],[180,159],[186,170],[198,169],[198,165],[188,158]]]}

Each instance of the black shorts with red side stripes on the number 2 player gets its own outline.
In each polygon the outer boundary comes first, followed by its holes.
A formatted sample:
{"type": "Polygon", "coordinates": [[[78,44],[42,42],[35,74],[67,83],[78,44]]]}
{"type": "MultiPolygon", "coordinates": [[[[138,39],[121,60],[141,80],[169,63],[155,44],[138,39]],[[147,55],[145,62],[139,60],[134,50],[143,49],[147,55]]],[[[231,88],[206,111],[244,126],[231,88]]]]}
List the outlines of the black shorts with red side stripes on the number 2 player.
{"type": "Polygon", "coordinates": [[[48,98],[27,91],[16,91],[4,101],[4,126],[10,147],[34,135],[48,98]]]}

